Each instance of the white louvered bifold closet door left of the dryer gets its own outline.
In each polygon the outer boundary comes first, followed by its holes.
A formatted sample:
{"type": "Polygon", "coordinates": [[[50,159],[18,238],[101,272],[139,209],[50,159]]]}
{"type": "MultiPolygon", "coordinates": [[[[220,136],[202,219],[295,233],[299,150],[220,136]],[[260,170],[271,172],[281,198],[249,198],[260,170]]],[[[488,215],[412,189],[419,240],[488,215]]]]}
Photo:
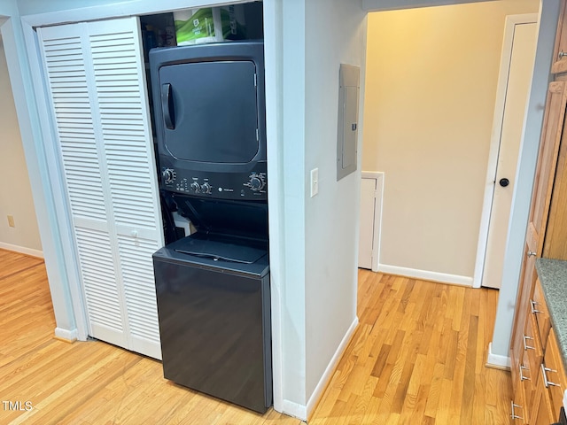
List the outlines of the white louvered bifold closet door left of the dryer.
{"type": "Polygon", "coordinates": [[[163,246],[136,18],[38,28],[90,335],[160,359],[163,246]]]}

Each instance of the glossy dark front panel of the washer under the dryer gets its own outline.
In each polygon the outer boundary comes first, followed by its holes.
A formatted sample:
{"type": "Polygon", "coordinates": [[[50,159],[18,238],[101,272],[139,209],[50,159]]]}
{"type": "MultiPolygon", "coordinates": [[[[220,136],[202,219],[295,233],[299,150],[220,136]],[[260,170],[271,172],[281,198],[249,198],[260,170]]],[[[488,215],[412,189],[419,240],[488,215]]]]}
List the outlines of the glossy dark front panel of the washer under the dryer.
{"type": "Polygon", "coordinates": [[[269,274],[154,258],[167,379],[257,412],[272,403],[269,274]]]}

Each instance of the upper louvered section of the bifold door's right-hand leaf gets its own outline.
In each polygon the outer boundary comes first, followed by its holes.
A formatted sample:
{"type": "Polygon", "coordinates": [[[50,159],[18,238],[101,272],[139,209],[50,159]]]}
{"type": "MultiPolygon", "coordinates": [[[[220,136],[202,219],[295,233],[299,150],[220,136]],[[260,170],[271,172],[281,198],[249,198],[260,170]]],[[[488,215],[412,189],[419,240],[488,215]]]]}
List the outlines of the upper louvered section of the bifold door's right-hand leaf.
{"type": "Polygon", "coordinates": [[[109,32],[91,35],[90,44],[114,219],[122,226],[155,228],[159,205],[151,186],[151,146],[140,101],[144,81],[139,62],[128,64],[128,58],[137,56],[136,38],[124,31],[109,32]],[[120,73],[113,73],[112,66],[120,67],[120,73]],[[133,89],[124,91],[125,86],[133,89]],[[114,87],[120,90],[108,89],[114,87]]]}

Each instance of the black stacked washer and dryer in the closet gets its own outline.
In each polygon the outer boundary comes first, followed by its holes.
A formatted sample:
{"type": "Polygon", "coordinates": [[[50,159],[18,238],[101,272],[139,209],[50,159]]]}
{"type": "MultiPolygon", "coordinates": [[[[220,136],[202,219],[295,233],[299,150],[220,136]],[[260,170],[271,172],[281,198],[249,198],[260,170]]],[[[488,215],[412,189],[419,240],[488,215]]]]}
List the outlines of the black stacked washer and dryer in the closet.
{"type": "Polygon", "coordinates": [[[263,57],[262,42],[150,52],[164,375],[260,413],[272,404],[263,57]]]}

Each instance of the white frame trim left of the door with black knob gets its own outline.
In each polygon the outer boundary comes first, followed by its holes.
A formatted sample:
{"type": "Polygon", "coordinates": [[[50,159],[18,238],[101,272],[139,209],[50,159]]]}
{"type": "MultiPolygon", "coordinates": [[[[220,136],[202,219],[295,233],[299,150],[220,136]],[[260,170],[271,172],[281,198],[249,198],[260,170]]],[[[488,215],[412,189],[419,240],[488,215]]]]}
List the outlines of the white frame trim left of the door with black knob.
{"type": "MultiPolygon", "coordinates": [[[[486,166],[485,197],[480,216],[480,229],[478,231],[477,259],[475,261],[475,272],[472,282],[473,288],[480,288],[485,272],[486,245],[488,243],[488,230],[493,209],[494,179],[496,178],[495,176],[498,168],[498,152],[500,151],[502,120],[504,119],[514,31],[517,25],[536,24],[537,22],[537,13],[509,15],[506,17],[504,41],[502,42],[500,73],[498,76],[498,91],[496,93],[496,104],[494,105],[493,131],[490,140],[490,151],[488,153],[488,165],[486,166]]],[[[525,106],[527,112],[527,102],[525,106]]]]}

